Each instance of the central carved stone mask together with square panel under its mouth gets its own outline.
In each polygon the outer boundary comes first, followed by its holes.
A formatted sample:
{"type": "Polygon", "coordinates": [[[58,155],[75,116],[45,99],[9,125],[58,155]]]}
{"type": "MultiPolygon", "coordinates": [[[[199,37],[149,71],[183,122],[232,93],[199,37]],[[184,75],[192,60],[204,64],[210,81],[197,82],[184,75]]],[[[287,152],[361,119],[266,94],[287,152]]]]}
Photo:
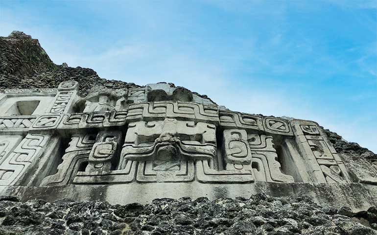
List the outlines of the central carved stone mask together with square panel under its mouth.
{"type": "Polygon", "coordinates": [[[132,160],[141,162],[138,181],[192,181],[193,162],[213,161],[215,152],[213,124],[175,118],[131,122],[120,155],[119,169],[132,160]],[[151,177],[153,175],[155,179],[151,177]]]}

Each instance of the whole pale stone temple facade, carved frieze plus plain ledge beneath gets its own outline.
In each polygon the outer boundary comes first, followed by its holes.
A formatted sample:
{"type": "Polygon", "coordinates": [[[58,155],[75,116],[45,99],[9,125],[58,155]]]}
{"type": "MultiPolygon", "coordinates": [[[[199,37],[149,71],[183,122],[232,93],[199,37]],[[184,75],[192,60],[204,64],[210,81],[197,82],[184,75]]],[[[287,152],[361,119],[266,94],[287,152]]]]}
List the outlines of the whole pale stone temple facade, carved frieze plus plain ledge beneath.
{"type": "Polygon", "coordinates": [[[0,195],[105,200],[308,195],[377,205],[377,167],[314,121],[227,110],[166,83],[0,91],[0,195]]]}

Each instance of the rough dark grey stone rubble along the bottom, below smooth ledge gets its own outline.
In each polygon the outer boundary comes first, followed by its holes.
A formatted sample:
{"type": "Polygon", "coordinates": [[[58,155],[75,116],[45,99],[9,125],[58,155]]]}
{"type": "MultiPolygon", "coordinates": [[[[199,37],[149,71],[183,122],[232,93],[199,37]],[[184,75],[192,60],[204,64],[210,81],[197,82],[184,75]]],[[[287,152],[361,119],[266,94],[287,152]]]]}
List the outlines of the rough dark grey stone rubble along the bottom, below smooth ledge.
{"type": "Polygon", "coordinates": [[[377,208],[323,208],[307,197],[213,201],[155,199],[110,205],[107,202],[59,200],[53,203],[0,199],[0,234],[18,235],[375,235],[377,208]]]}

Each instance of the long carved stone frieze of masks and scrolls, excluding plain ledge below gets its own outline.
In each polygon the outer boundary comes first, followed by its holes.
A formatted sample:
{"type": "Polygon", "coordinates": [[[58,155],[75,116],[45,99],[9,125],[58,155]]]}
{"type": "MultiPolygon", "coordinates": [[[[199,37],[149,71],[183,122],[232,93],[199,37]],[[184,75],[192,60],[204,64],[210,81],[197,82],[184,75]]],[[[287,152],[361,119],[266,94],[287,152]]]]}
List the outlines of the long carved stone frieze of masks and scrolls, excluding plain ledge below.
{"type": "Polygon", "coordinates": [[[17,185],[46,148],[56,148],[51,151],[56,154],[48,157],[54,163],[51,169],[36,181],[42,187],[350,181],[314,122],[219,110],[170,84],[129,90],[94,87],[83,98],[77,92],[75,81],[58,89],[1,91],[53,99],[44,114],[0,116],[0,185],[17,185]],[[66,145],[50,146],[51,136],[66,145]],[[305,164],[295,165],[294,159],[305,164]],[[309,177],[292,174],[295,167],[304,167],[309,177]]]}

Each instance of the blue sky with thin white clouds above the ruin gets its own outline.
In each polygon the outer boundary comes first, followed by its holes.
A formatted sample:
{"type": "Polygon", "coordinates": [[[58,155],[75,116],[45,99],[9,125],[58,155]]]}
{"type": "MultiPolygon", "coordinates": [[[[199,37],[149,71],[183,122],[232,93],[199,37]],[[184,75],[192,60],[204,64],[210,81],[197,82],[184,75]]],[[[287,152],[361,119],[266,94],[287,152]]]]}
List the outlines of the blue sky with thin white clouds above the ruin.
{"type": "Polygon", "coordinates": [[[377,152],[375,0],[4,1],[56,64],[161,81],[235,111],[315,120],[377,152]]]}

